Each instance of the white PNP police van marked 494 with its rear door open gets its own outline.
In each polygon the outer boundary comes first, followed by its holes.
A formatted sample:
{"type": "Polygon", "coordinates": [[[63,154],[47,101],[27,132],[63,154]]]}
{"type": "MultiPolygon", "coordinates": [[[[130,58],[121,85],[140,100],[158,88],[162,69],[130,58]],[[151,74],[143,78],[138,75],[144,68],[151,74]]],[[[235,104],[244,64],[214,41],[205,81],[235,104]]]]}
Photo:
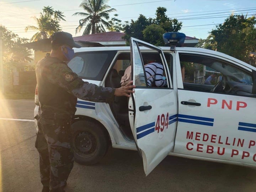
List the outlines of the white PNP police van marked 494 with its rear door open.
{"type": "MultiPolygon", "coordinates": [[[[167,43],[183,38],[165,37],[167,43]]],[[[130,47],[74,50],[68,65],[84,81],[118,88],[131,64],[137,86],[111,104],[78,99],[76,162],[97,163],[111,141],[113,148],[138,149],[146,175],[167,155],[256,167],[255,67],[208,49],[160,48],[135,38],[130,47]],[[151,61],[164,65],[167,87],[138,80],[151,61]]]]}

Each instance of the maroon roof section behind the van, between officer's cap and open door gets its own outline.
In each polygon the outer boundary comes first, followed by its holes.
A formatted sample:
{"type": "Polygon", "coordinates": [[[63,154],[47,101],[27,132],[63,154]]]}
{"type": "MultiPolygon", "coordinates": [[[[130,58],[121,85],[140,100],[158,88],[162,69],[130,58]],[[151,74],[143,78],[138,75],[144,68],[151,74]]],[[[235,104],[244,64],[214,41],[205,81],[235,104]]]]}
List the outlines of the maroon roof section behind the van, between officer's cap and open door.
{"type": "Polygon", "coordinates": [[[95,33],[95,34],[74,37],[74,40],[75,41],[125,41],[124,39],[122,39],[124,35],[125,33],[109,31],[109,32],[95,33]]]}

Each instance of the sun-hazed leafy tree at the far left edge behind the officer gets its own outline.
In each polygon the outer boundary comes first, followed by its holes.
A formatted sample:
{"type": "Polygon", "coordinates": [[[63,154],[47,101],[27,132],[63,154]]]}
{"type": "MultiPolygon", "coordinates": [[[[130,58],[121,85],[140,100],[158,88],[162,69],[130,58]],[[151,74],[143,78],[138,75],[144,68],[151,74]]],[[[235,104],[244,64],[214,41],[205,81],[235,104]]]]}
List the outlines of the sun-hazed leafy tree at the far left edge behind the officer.
{"type": "Polygon", "coordinates": [[[0,37],[3,40],[3,63],[6,70],[12,71],[14,68],[23,68],[33,59],[31,50],[23,46],[28,42],[26,38],[20,38],[17,34],[6,27],[0,26],[0,37]]]}

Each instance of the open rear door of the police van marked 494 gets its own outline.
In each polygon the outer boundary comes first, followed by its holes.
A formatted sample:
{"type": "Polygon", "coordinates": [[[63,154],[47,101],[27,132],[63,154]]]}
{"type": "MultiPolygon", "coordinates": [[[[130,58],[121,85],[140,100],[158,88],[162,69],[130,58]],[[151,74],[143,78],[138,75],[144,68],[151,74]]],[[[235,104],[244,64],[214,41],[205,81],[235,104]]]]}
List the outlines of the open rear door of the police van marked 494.
{"type": "MultiPolygon", "coordinates": [[[[177,96],[172,89],[170,72],[161,48],[131,38],[132,77],[135,93],[129,98],[130,125],[143,157],[148,175],[174,148],[177,117],[177,96]],[[167,87],[149,87],[139,46],[158,54],[167,78],[167,87]],[[134,117],[134,118],[133,118],[134,117]]],[[[144,58],[145,59],[145,58],[144,58]]]]}

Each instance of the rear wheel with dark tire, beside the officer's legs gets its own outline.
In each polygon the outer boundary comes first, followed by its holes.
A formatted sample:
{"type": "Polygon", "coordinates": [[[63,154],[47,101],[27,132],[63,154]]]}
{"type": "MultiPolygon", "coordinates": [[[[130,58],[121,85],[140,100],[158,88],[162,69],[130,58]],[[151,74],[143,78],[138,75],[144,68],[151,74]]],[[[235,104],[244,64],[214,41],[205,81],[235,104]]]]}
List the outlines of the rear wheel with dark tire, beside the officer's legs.
{"type": "Polygon", "coordinates": [[[81,120],[72,124],[72,144],[75,162],[94,165],[108,150],[108,135],[99,123],[81,120]]]}

